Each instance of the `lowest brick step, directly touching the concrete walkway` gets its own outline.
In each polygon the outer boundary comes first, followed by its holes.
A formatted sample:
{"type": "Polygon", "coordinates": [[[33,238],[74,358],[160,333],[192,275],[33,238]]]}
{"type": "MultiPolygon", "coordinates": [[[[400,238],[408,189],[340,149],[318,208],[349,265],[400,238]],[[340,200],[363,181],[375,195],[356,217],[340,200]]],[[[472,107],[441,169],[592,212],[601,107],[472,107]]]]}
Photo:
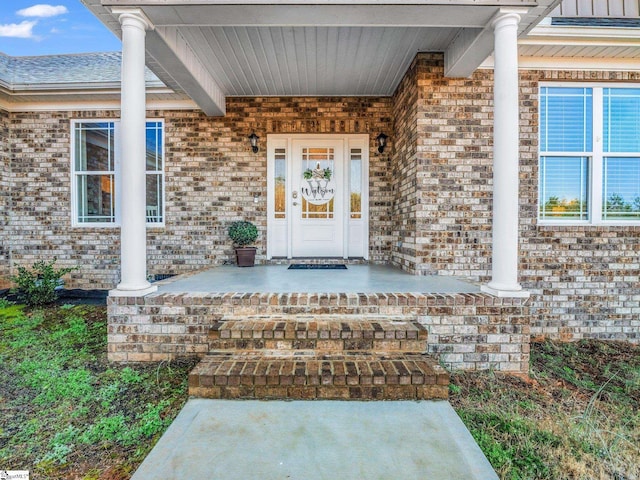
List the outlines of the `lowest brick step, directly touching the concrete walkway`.
{"type": "Polygon", "coordinates": [[[423,354],[286,356],[219,352],[189,374],[189,394],[204,398],[446,398],[449,374],[423,354]]]}

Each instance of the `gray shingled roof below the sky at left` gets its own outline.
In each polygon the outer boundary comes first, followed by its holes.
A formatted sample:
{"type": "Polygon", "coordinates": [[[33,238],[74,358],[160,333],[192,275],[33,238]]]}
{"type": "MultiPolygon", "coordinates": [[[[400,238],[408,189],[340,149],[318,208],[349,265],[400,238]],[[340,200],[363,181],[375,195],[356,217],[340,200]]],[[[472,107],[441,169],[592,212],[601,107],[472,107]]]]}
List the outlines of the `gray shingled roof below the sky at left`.
{"type": "MultiPolygon", "coordinates": [[[[19,86],[120,82],[120,52],[11,57],[0,52],[0,82],[19,86]]],[[[162,86],[146,68],[147,85],[162,86]]]]}

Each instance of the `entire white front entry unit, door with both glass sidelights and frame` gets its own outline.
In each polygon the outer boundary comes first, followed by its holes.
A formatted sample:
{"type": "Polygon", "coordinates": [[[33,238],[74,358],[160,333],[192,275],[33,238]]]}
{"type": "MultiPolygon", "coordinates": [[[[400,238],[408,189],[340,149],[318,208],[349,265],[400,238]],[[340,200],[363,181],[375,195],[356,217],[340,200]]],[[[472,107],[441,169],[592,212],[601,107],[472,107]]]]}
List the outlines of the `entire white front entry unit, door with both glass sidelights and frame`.
{"type": "Polygon", "coordinates": [[[368,258],[368,135],[267,137],[267,258],[368,258]]]}

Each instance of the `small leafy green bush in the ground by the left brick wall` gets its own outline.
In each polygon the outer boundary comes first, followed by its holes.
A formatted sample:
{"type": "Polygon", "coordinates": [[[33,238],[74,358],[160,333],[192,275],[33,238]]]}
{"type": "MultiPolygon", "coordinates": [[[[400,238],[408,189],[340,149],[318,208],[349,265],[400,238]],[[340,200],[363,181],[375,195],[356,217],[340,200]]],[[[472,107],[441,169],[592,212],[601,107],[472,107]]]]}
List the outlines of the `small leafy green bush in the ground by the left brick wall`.
{"type": "Polygon", "coordinates": [[[62,277],[77,267],[55,268],[56,258],[50,262],[40,260],[33,267],[19,266],[18,275],[11,277],[17,285],[12,291],[20,301],[32,307],[47,305],[56,300],[56,288],[62,285],[62,277]]]}

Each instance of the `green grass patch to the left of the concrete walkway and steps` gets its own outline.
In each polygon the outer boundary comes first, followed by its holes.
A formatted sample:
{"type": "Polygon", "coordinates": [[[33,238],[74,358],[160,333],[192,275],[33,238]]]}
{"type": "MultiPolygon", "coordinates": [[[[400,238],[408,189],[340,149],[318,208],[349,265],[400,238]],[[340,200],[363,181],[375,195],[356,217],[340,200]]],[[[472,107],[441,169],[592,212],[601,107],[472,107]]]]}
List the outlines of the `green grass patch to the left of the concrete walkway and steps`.
{"type": "Polygon", "coordinates": [[[106,359],[106,308],[0,304],[0,466],[125,479],[187,398],[193,360],[106,359]]]}

